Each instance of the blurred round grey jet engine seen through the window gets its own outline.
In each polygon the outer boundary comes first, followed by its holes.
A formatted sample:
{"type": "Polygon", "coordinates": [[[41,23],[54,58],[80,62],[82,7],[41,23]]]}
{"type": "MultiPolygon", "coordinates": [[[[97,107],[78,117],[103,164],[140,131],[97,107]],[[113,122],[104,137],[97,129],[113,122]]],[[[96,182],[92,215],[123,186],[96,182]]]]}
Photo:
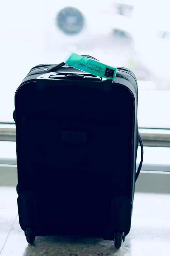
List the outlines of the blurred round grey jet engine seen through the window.
{"type": "Polygon", "coordinates": [[[84,18],[78,9],[66,7],[57,14],[56,25],[65,34],[76,35],[84,26],[84,18]]]}

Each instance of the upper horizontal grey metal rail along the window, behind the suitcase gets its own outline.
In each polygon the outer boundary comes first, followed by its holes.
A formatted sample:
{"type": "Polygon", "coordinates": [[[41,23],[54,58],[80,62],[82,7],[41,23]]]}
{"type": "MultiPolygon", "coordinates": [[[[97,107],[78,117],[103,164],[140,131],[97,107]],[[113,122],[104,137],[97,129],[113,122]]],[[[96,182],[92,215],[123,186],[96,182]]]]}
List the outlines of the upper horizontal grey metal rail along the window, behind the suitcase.
{"type": "MultiPolygon", "coordinates": [[[[170,130],[139,129],[143,145],[147,147],[170,147],[170,130]]],[[[0,128],[0,141],[16,141],[15,128],[0,128]]]]}

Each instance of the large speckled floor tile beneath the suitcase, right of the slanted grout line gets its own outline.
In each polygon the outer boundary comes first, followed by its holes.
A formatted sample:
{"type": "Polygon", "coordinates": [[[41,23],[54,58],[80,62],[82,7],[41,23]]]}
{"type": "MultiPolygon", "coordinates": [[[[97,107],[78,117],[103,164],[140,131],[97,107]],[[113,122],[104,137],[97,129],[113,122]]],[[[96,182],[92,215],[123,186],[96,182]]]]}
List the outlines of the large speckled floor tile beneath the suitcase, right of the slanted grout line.
{"type": "Polygon", "coordinates": [[[70,237],[36,237],[30,245],[17,218],[1,256],[168,256],[169,237],[169,219],[133,217],[131,231],[118,250],[113,241],[70,237]]]}

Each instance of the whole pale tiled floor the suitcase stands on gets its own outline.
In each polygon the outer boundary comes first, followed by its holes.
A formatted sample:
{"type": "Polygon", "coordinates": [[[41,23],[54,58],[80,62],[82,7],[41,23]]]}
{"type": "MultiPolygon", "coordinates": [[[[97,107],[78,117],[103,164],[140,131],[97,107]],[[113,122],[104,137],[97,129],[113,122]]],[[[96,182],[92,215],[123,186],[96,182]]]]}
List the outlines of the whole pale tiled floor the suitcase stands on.
{"type": "Polygon", "coordinates": [[[36,237],[26,241],[17,214],[17,193],[0,187],[1,256],[168,256],[170,252],[170,194],[135,193],[131,231],[122,247],[102,239],[36,237]]]}

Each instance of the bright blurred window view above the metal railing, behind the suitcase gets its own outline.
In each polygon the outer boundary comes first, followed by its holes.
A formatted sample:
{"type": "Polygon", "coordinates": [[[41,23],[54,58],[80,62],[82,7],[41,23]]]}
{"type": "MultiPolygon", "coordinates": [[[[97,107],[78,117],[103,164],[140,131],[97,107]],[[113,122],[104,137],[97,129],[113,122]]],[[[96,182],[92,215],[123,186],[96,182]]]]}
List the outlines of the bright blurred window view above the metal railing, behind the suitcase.
{"type": "Polygon", "coordinates": [[[13,122],[14,94],[29,70],[58,64],[72,50],[131,69],[141,91],[139,126],[170,128],[163,114],[170,96],[169,9],[165,0],[3,1],[0,122],[13,122]]]}

